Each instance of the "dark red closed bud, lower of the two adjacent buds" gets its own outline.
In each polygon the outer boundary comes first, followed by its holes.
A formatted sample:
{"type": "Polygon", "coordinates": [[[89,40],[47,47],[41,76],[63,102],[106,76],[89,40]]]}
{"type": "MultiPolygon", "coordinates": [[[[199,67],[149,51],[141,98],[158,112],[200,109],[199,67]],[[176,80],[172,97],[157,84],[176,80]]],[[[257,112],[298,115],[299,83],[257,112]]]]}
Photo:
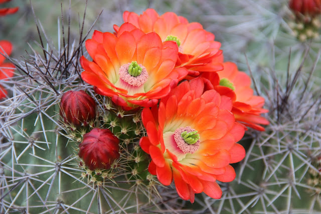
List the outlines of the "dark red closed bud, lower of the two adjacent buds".
{"type": "Polygon", "coordinates": [[[95,128],[84,135],[78,156],[90,170],[109,169],[119,158],[119,139],[109,129],[95,128]]]}

